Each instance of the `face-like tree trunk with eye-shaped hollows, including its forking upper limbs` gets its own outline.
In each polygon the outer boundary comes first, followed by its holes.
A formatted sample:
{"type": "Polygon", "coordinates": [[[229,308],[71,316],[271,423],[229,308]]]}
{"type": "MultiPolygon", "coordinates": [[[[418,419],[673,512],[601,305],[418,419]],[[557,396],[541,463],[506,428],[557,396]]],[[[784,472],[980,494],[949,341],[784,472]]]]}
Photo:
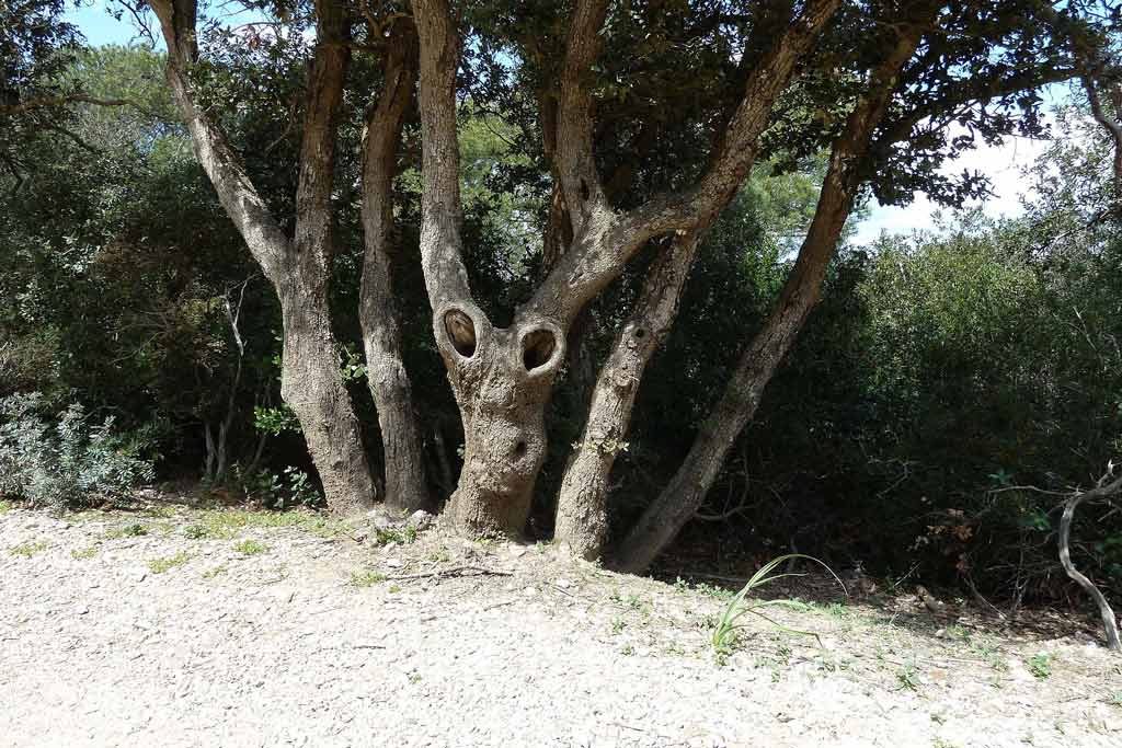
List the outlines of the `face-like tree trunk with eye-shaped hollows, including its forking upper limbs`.
{"type": "Polygon", "coordinates": [[[691,231],[728,203],[747,173],[772,103],[840,2],[808,0],[749,76],[727,137],[695,187],[656,195],[626,212],[611,207],[597,174],[594,98],[587,86],[608,4],[607,0],[574,3],[560,73],[557,131],[546,138],[554,150],[572,241],[519,307],[514,324],[498,330],[472,303],[462,260],[456,136],[458,18],[448,0],[413,0],[421,40],[421,256],[435,311],[433,331],[466,434],[465,467],[448,510],[468,533],[522,532],[544,459],[543,410],[564,357],[565,332],[647,240],[691,231]]]}

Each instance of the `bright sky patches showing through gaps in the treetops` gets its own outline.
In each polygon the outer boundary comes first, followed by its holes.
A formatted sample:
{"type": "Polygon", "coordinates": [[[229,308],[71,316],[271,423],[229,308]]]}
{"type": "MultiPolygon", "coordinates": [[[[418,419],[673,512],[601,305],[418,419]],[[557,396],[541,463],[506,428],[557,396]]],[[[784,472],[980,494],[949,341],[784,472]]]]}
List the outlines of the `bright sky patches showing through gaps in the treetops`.
{"type": "MultiPolygon", "coordinates": [[[[83,6],[72,9],[67,20],[79,27],[92,45],[142,43],[130,18],[116,20],[105,6],[107,0],[82,0],[83,6]]],[[[158,38],[158,35],[157,35],[158,38]]],[[[1046,99],[1059,101],[1065,95],[1061,86],[1052,86],[1046,99]]],[[[1022,213],[1021,196],[1030,191],[1023,177],[1023,169],[1032,166],[1048,148],[1048,144],[1029,138],[1008,138],[1001,146],[983,146],[945,166],[948,173],[959,174],[964,168],[978,170],[990,177],[993,196],[982,206],[991,218],[1015,218],[1022,213]]],[[[967,204],[973,207],[977,203],[967,204]]],[[[855,243],[867,243],[882,232],[911,233],[935,228],[936,214],[940,212],[925,195],[917,194],[914,201],[904,207],[872,205],[864,219],[855,227],[855,243]]]]}

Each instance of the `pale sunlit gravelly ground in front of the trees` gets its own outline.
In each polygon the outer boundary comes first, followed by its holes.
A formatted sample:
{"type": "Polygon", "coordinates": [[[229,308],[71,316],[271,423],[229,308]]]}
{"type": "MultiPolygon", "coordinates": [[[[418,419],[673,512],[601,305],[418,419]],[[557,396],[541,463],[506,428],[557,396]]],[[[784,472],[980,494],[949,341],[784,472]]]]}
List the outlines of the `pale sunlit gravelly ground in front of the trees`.
{"type": "Polygon", "coordinates": [[[715,653],[727,601],[375,517],[0,504],[0,746],[1122,746],[1087,634],[900,590],[715,653]]]}

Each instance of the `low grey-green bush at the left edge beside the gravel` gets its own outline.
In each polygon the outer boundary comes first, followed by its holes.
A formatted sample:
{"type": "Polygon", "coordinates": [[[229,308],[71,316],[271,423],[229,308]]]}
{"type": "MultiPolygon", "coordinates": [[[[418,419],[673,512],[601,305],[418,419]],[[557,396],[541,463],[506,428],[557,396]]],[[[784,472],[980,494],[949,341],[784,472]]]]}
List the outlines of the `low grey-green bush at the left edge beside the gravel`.
{"type": "Polygon", "coordinates": [[[127,496],[153,480],[144,440],[91,424],[80,404],[55,410],[39,394],[0,399],[0,496],[77,508],[127,496]]]}

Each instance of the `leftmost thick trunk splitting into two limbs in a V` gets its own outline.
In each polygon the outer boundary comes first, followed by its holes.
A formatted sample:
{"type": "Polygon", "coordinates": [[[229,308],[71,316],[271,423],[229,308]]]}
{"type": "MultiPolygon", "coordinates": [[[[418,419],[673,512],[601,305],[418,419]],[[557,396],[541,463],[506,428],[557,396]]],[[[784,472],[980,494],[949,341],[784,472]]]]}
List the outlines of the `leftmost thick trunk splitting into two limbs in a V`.
{"type": "Polygon", "coordinates": [[[224,133],[196,107],[187,72],[197,58],[195,0],[150,0],[168,49],[167,79],[192,146],[219,201],[280,299],[280,391],[300,419],[332,511],[373,506],[376,489],[358,419],[339,375],[328,278],[332,256],[331,185],[350,21],[338,3],[316,3],[316,46],[301,146],[296,231],[289,241],[257,193],[224,133]]]}

